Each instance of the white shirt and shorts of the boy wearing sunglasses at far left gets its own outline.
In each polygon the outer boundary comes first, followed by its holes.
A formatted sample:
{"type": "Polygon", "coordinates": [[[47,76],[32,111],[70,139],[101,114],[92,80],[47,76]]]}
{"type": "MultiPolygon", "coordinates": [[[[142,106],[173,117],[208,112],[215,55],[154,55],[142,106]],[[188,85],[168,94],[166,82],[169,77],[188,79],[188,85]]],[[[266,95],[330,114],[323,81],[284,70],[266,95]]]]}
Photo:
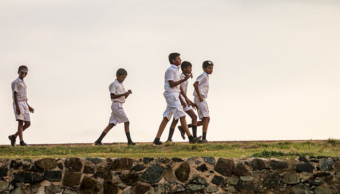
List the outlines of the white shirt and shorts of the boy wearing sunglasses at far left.
{"type": "Polygon", "coordinates": [[[28,98],[27,98],[27,85],[25,81],[21,80],[19,77],[17,80],[11,83],[12,86],[12,99],[13,99],[13,110],[17,120],[31,121],[30,111],[28,109],[28,98]],[[14,92],[17,92],[17,103],[20,109],[20,114],[16,113],[17,106],[14,101],[14,92]]]}

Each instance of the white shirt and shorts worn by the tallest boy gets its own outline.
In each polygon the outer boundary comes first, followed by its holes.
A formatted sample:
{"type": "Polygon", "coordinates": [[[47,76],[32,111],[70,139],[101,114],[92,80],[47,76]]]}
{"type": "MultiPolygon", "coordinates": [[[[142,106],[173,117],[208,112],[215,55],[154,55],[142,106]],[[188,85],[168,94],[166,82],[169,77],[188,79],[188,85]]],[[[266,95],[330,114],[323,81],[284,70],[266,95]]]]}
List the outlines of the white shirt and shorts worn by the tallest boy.
{"type": "Polygon", "coordinates": [[[185,116],[185,112],[179,100],[179,94],[181,92],[181,85],[178,84],[175,87],[170,87],[169,81],[180,81],[181,76],[179,72],[180,66],[176,66],[171,64],[167,69],[164,75],[164,90],[163,96],[167,101],[167,108],[163,113],[163,118],[167,117],[168,120],[171,119],[173,114],[173,118],[175,120],[185,116]]]}

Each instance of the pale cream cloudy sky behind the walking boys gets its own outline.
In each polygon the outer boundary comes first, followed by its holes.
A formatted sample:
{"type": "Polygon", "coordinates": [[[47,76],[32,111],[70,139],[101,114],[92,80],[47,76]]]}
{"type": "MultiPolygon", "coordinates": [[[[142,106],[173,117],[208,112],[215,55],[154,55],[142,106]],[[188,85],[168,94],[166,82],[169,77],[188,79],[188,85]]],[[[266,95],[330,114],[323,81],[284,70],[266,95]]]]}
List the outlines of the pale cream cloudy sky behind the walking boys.
{"type": "MultiPolygon", "coordinates": [[[[19,65],[29,68],[35,109],[26,143],[97,140],[121,67],[133,91],[123,105],[131,137],[152,142],[166,108],[171,52],[193,64],[191,100],[203,61],[215,63],[207,140],[340,138],[337,0],[1,0],[0,27],[2,145],[17,130],[11,82],[19,65]]],[[[178,129],[172,139],[187,141],[178,129]]],[[[124,125],[103,142],[127,142],[124,125]]]]}

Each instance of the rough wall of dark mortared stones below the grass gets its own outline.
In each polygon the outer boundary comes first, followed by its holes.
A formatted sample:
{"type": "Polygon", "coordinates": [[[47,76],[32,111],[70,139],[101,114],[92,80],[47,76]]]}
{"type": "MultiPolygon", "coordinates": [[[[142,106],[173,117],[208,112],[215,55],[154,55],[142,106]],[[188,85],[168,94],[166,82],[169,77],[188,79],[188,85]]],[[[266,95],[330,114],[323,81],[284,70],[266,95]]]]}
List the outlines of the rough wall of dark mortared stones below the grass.
{"type": "Polygon", "coordinates": [[[0,194],[339,194],[340,157],[1,159],[0,194]]]}

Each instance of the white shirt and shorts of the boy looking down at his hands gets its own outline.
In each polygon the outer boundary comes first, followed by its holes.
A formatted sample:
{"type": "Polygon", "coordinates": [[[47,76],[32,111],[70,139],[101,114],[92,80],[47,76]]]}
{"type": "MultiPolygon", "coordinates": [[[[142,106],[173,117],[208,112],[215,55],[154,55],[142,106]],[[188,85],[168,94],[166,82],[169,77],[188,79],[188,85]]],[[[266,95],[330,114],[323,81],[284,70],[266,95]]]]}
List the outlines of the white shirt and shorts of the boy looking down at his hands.
{"type": "MultiPolygon", "coordinates": [[[[110,94],[120,95],[126,93],[123,83],[120,83],[118,80],[115,80],[109,85],[110,94]]],[[[117,125],[117,123],[125,123],[128,122],[129,119],[126,116],[123,103],[125,102],[125,96],[121,96],[118,98],[111,99],[111,117],[109,123],[113,123],[117,125]]]]}

